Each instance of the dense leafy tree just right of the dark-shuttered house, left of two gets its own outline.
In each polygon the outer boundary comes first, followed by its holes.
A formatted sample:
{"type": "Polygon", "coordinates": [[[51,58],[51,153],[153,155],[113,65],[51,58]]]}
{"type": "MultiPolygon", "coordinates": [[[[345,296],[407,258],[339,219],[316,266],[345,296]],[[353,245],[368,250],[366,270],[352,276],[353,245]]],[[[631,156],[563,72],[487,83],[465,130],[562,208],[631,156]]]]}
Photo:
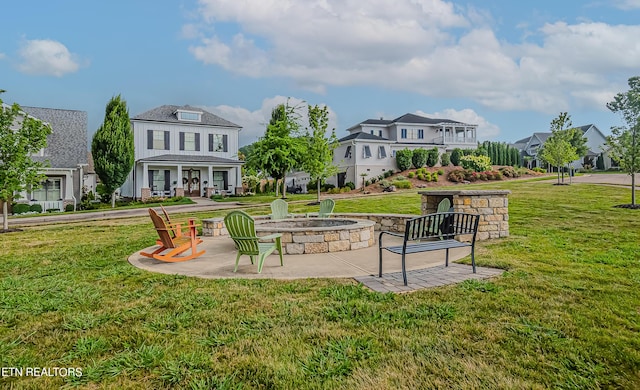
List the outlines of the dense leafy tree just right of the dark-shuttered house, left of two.
{"type": "MultiPolygon", "coordinates": [[[[279,104],[271,111],[271,120],[264,137],[253,144],[253,152],[247,156],[250,166],[278,180],[287,172],[300,166],[303,145],[297,137],[300,132],[300,115],[297,107],[279,104]]],[[[276,196],[278,196],[276,186],[276,196]]],[[[282,198],[286,198],[283,186],[282,198]]]]}

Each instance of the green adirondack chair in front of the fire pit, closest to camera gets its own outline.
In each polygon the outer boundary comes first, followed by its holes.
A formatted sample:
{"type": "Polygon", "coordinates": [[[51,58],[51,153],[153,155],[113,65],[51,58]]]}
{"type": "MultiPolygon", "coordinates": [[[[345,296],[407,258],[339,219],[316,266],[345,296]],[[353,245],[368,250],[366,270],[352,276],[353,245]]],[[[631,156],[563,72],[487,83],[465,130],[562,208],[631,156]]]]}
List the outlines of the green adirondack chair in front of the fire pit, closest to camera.
{"type": "Polygon", "coordinates": [[[264,237],[256,235],[255,221],[244,211],[232,211],[224,217],[224,225],[229,231],[229,235],[238,248],[236,256],[236,267],[233,272],[238,270],[238,262],[240,256],[248,255],[251,258],[251,264],[254,264],[255,257],[258,256],[258,273],[262,272],[264,259],[273,251],[277,250],[280,254],[280,265],[282,263],[282,234],[270,234],[264,237]],[[273,240],[274,242],[260,242],[261,240],[273,240]]]}

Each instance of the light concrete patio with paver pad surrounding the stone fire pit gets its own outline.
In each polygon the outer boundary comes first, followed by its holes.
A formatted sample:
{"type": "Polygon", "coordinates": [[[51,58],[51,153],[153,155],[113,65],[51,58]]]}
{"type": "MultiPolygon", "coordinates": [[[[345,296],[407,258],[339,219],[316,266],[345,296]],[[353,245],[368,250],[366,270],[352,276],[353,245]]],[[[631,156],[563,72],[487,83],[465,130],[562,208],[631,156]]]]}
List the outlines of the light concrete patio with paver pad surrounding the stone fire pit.
{"type": "MultiPolygon", "coordinates": [[[[376,235],[377,237],[377,235],[376,235]]],[[[364,249],[321,254],[284,255],[284,266],[280,258],[272,254],[265,260],[262,273],[251,264],[249,256],[242,256],[238,271],[233,272],[236,250],[228,236],[202,237],[198,247],[206,253],[199,258],[165,263],[136,252],[129,262],[141,269],[163,274],[179,274],[209,279],[306,279],[306,278],[353,278],[378,292],[409,292],[424,288],[460,283],[468,279],[486,279],[502,274],[503,270],[477,267],[473,273],[470,265],[452,263],[469,255],[469,248],[450,251],[449,267],[444,266],[444,251],[407,256],[408,286],[402,282],[400,256],[383,252],[383,277],[378,278],[378,246],[364,249]]],[[[401,240],[399,241],[401,243],[401,240]]],[[[385,239],[386,244],[386,239],[385,239]]],[[[149,251],[145,248],[141,251],[149,251]]]]}

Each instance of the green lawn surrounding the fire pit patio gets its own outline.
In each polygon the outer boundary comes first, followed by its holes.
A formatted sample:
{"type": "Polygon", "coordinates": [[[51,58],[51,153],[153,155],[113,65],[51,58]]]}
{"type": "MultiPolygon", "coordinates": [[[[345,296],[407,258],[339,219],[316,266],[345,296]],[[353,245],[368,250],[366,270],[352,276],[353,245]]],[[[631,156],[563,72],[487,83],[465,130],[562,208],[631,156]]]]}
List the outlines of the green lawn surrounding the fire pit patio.
{"type": "MultiPolygon", "coordinates": [[[[138,270],[126,259],[155,240],[146,218],[1,234],[0,365],[83,375],[0,387],[639,388],[640,214],[611,207],[628,191],[482,187],[512,191],[511,236],[477,249],[479,265],[507,272],[404,295],[138,270]]],[[[419,207],[408,192],[336,212],[419,207]]]]}

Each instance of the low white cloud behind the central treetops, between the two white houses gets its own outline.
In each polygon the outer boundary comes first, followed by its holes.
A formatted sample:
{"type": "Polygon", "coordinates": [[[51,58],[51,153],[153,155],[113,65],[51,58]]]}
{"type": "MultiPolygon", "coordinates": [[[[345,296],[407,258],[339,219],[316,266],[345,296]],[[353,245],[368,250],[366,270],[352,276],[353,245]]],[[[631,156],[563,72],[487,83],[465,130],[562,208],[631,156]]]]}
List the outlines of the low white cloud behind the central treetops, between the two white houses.
{"type": "MultiPolygon", "coordinates": [[[[271,111],[278,106],[279,104],[287,103],[289,106],[298,107],[298,114],[300,115],[300,123],[303,128],[308,126],[307,122],[307,104],[315,105],[316,103],[308,103],[298,98],[287,98],[285,96],[274,96],[271,98],[264,99],[262,101],[262,106],[255,110],[250,111],[244,107],[232,107],[227,105],[221,106],[206,106],[202,107],[203,109],[216,114],[228,121],[231,121],[237,125],[242,126],[242,131],[240,131],[240,145],[248,145],[258,140],[258,138],[264,135],[264,132],[267,128],[267,124],[271,119],[271,111]]],[[[318,103],[319,106],[323,106],[324,104],[318,103]]],[[[336,128],[337,117],[335,111],[329,109],[329,123],[327,127],[327,132],[330,132],[331,129],[336,128]]]]}

